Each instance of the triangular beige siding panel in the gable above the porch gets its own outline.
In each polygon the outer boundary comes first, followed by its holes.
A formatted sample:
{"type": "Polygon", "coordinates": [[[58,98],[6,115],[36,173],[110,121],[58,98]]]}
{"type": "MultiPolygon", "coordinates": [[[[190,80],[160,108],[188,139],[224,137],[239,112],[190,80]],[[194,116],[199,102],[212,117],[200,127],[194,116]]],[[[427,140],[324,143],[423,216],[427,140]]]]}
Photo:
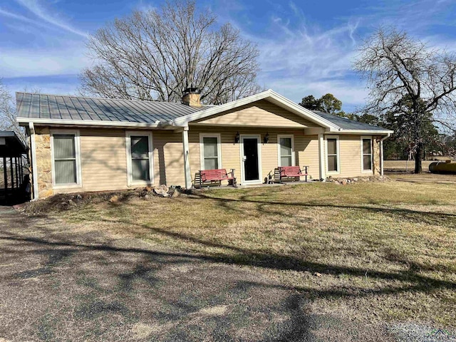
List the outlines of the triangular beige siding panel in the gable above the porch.
{"type": "Polygon", "coordinates": [[[266,100],[260,100],[250,105],[245,105],[234,110],[214,115],[198,121],[204,125],[237,125],[237,126],[262,126],[305,128],[315,127],[314,123],[290,113],[284,108],[274,105],[266,100]]]}

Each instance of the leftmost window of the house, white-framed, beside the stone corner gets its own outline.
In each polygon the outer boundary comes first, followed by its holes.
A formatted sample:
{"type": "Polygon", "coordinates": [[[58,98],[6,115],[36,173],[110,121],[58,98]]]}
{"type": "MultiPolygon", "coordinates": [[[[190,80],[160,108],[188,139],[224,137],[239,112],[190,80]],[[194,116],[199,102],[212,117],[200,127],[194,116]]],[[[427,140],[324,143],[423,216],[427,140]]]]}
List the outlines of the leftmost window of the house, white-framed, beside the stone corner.
{"type": "Polygon", "coordinates": [[[79,135],[78,133],[52,133],[53,184],[54,186],[79,185],[79,135]]]}

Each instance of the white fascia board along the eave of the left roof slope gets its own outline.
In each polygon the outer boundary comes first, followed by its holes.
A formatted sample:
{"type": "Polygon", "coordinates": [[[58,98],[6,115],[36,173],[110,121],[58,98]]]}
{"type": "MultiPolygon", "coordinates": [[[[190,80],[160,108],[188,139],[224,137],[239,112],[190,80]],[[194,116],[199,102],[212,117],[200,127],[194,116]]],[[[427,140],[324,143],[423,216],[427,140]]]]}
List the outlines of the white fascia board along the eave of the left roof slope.
{"type": "Polygon", "coordinates": [[[120,121],[101,120],[63,120],[42,118],[16,118],[18,123],[34,123],[36,125],[78,125],[78,126],[108,126],[108,127],[133,127],[133,128],[158,128],[160,121],[155,123],[126,123],[120,121]]]}

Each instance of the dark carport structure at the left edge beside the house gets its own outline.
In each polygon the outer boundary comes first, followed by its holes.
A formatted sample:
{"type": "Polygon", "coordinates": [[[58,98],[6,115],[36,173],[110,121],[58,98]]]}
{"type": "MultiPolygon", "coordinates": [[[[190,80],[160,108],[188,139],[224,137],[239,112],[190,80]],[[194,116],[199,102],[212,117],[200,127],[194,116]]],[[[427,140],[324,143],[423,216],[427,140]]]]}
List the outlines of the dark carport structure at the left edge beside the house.
{"type": "Polygon", "coordinates": [[[24,200],[24,155],[27,149],[16,133],[0,130],[0,204],[24,200]],[[1,182],[1,180],[3,182],[1,182]]]}

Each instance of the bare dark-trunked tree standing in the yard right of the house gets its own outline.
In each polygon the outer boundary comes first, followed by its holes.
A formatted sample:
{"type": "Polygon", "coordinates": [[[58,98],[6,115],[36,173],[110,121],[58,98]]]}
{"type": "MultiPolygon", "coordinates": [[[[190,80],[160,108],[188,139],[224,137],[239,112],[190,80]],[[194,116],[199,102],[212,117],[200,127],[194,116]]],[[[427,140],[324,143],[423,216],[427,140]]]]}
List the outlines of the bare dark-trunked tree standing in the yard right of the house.
{"type": "Polygon", "coordinates": [[[456,56],[395,28],[380,28],[359,48],[355,69],[366,79],[377,114],[403,115],[411,129],[415,173],[423,171],[423,125],[455,130],[456,56]]]}

